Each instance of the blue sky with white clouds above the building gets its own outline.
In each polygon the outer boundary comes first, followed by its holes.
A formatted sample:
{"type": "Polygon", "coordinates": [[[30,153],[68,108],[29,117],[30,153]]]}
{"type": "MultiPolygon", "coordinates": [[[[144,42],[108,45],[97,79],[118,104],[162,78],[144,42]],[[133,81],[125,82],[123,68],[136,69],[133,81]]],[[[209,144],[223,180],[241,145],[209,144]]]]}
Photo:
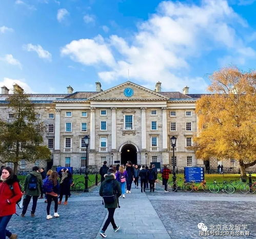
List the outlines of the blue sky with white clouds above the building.
{"type": "Polygon", "coordinates": [[[0,86],[95,91],[128,79],[204,93],[208,75],[255,69],[254,0],[1,0],[0,86]]]}

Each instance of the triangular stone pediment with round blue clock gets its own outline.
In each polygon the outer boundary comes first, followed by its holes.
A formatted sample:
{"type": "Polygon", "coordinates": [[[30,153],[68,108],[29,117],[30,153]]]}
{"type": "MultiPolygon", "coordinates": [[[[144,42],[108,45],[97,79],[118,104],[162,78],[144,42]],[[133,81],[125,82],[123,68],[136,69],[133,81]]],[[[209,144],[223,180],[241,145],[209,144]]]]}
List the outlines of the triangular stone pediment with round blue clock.
{"type": "Polygon", "coordinates": [[[95,101],[166,101],[169,98],[130,81],[104,90],[88,98],[95,101]]]}

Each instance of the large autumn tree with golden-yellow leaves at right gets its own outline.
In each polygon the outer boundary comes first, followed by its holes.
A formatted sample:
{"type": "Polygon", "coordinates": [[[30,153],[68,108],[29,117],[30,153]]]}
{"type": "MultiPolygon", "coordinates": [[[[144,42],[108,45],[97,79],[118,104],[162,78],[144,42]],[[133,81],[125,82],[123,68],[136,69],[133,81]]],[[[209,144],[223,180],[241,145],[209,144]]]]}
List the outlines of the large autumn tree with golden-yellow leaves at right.
{"type": "Polygon", "coordinates": [[[195,155],[204,160],[234,158],[246,178],[246,169],[256,164],[256,72],[223,68],[210,80],[210,94],[196,103],[195,155]]]}

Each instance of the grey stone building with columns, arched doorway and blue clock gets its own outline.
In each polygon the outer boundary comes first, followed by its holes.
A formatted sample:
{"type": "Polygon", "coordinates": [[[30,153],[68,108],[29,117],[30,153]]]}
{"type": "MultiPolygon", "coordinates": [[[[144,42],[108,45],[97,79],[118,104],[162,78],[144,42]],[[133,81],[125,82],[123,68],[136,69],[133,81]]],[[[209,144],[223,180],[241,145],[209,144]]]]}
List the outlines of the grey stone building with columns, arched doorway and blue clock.
{"type": "MultiPolygon", "coordinates": [[[[17,87],[17,86],[14,86],[17,87]]],[[[8,89],[2,87],[0,117],[8,120],[6,97],[8,89]]],[[[150,90],[130,81],[107,90],[96,82],[95,92],[74,92],[67,87],[67,94],[30,94],[37,109],[37,118],[47,126],[44,142],[52,152],[52,164],[81,168],[86,164],[83,137],[90,136],[89,165],[99,169],[103,161],[112,164],[128,160],[137,164],[159,162],[172,165],[170,137],[177,137],[174,164],[203,166],[192,151],[192,136],[196,134],[195,103],[201,94],[163,92],[157,82],[150,90]]],[[[218,162],[212,160],[210,168],[218,162]]],[[[45,162],[36,162],[46,166],[45,162]]],[[[238,167],[230,160],[224,167],[238,167]]],[[[31,168],[21,162],[22,168],[31,168]]]]}

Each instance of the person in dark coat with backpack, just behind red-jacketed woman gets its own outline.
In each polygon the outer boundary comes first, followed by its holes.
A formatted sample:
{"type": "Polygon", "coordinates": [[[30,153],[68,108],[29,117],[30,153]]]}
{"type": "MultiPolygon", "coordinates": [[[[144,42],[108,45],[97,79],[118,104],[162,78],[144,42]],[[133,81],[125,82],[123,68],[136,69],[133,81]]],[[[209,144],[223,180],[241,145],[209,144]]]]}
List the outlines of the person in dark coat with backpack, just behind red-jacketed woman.
{"type": "Polygon", "coordinates": [[[31,197],[33,198],[31,216],[32,217],[35,216],[37,199],[41,193],[42,186],[43,186],[43,181],[42,181],[41,173],[39,172],[39,168],[37,166],[34,166],[32,168],[32,172],[27,174],[25,181],[24,181],[25,198],[23,201],[24,206],[23,206],[23,210],[22,210],[22,214],[21,214],[22,217],[24,217],[27,212],[31,197]]]}

